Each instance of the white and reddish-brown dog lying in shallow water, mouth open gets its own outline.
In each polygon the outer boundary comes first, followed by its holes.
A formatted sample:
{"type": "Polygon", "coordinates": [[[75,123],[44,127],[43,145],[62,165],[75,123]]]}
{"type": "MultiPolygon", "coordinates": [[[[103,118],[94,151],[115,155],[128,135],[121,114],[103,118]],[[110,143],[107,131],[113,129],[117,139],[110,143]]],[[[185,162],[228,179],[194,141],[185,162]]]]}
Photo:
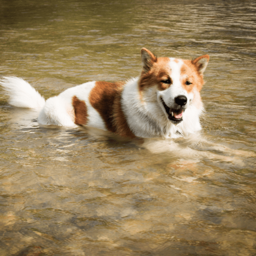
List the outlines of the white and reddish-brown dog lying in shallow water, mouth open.
{"type": "Polygon", "coordinates": [[[143,69],[128,81],[91,81],[45,101],[29,83],[3,77],[9,104],[40,111],[38,123],[90,126],[122,137],[177,138],[201,129],[200,90],[209,55],[192,60],[157,58],[141,49],[143,69]]]}

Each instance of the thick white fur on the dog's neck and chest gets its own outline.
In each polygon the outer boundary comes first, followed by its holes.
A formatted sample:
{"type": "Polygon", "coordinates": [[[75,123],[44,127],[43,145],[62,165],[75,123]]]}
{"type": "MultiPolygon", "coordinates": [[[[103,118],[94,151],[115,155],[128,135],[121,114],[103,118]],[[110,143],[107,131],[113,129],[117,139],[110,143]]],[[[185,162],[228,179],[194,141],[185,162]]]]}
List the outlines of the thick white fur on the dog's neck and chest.
{"type": "Polygon", "coordinates": [[[177,138],[201,130],[199,116],[203,111],[203,106],[198,109],[191,104],[184,113],[183,121],[174,125],[166,118],[158,102],[142,99],[139,81],[139,77],[127,81],[121,99],[122,111],[135,136],[177,138]],[[154,108],[154,111],[150,111],[151,108],[154,108]]]}

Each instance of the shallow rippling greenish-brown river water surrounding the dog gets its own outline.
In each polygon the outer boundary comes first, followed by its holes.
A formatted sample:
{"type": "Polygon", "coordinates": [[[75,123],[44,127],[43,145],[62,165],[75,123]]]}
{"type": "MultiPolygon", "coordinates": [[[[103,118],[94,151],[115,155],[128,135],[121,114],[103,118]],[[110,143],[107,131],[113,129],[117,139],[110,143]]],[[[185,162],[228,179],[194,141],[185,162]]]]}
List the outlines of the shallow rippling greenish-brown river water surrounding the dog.
{"type": "Polygon", "coordinates": [[[46,98],[210,55],[200,139],[42,128],[0,93],[1,256],[256,255],[256,3],[0,0],[0,75],[46,98]]]}

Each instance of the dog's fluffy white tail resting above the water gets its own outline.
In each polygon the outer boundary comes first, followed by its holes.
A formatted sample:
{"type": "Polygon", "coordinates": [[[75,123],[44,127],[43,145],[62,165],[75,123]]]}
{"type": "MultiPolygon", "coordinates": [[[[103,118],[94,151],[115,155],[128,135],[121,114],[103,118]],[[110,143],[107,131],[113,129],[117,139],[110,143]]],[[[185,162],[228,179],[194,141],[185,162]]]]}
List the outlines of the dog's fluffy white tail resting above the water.
{"type": "Polygon", "coordinates": [[[40,110],[44,107],[45,99],[28,82],[15,76],[0,79],[0,85],[9,96],[9,104],[18,108],[33,108],[40,110]]]}

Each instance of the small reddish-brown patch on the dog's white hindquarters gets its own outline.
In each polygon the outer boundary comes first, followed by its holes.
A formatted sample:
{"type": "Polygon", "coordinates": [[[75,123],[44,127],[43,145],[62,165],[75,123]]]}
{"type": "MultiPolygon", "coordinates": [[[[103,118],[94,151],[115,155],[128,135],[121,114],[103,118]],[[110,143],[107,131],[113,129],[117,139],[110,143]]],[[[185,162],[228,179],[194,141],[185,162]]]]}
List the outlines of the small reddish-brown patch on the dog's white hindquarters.
{"type": "Polygon", "coordinates": [[[83,100],[78,99],[76,96],[73,96],[72,105],[75,113],[75,124],[81,126],[86,125],[88,114],[85,102],[83,100]]]}

